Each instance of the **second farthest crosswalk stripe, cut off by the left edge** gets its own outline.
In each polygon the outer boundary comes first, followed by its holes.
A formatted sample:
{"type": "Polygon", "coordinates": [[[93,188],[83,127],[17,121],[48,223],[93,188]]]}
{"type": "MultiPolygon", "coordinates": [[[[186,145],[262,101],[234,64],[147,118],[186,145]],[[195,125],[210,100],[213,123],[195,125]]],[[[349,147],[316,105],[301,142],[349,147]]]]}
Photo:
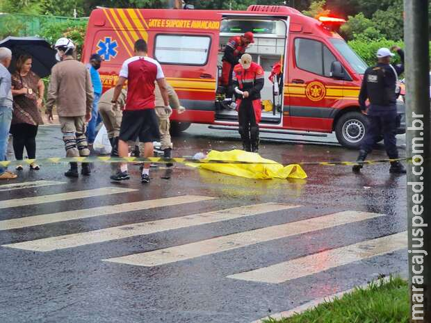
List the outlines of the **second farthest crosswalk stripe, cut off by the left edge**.
{"type": "Polygon", "coordinates": [[[60,194],[50,194],[40,197],[24,197],[22,199],[8,199],[0,201],[0,208],[15,208],[35,204],[51,203],[56,201],[69,201],[71,199],[83,199],[85,197],[99,197],[101,195],[118,194],[136,191],[131,188],[97,188],[95,190],[80,190],[60,194]]]}

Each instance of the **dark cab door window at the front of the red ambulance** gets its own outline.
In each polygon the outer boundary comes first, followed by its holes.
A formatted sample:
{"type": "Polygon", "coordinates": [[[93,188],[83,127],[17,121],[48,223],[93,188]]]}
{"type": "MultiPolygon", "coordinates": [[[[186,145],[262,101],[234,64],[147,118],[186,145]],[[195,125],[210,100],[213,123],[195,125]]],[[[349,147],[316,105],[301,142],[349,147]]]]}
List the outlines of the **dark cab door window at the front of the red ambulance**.
{"type": "Polygon", "coordinates": [[[296,66],[304,71],[330,77],[331,64],[336,58],[318,40],[295,38],[295,60],[296,66]]]}

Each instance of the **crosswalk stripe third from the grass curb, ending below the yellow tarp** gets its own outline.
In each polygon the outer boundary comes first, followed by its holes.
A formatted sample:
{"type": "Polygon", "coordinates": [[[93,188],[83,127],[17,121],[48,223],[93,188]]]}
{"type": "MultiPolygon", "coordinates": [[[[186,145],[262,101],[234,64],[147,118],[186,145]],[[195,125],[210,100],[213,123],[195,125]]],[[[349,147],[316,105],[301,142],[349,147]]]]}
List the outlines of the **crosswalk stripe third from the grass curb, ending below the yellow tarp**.
{"type": "Polygon", "coordinates": [[[210,224],[238,217],[248,217],[260,213],[268,213],[277,210],[286,210],[298,206],[288,204],[266,203],[252,206],[241,206],[238,208],[228,208],[206,213],[186,215],[184,217],[174,217],[170,219],[156,220],[151,222],[140,222],[136,224],[126,224],[114,226],[112,228],[74,233],[70,235],[60,235],[58,237],[44,238],[26,242],[18,242],[3,247],[32,250],[32,251],[52,251],[90,245],[92,243],[106,242],[122,238],[130,238],[137,235],[147,235],[173,229],[181,229],[190,226],[210,224]]]}

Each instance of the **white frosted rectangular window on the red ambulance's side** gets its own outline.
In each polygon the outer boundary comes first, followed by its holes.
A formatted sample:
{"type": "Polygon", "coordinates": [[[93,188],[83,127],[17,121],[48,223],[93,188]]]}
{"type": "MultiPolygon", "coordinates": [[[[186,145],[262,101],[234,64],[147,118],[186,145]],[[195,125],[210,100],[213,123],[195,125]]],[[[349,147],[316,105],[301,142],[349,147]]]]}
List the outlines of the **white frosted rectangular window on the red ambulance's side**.
{"type": "Polygon", "coordinates": [[[211,38],[192,35],[156,35],[154,58],[161,64],[206,65],[211,38]]]}

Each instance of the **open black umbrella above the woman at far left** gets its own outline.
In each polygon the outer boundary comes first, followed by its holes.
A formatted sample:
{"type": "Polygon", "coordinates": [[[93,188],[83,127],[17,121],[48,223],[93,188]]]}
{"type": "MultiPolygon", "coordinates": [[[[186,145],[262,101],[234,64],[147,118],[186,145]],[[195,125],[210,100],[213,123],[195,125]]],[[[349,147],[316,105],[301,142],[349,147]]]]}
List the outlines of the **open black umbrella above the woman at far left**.
{"type": "Polygon", "coordinates": [[[12,63],[9,71],[15,72],[17,59],[22,54],[29,54],[33,60],[31,70],[40,78],[51,74],[51,68],[57,63],[56,51],[49,42],[38,37],[8,37],[1,40],[0,47],[7,47],[12,51],[12,63]]]}

